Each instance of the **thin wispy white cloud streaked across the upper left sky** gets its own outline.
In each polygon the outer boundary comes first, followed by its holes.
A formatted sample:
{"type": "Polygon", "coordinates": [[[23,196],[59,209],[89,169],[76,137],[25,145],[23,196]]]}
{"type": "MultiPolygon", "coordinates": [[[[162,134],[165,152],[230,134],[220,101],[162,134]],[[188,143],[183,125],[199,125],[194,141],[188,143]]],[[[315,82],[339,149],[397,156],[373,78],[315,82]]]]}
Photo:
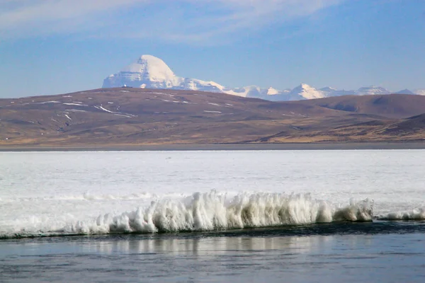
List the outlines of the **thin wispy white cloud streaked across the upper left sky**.
{"type": "Polygon", "coordinates": [[[0,0],[0,38],[84,34],[213,42],[344,0],[0,0]]]}

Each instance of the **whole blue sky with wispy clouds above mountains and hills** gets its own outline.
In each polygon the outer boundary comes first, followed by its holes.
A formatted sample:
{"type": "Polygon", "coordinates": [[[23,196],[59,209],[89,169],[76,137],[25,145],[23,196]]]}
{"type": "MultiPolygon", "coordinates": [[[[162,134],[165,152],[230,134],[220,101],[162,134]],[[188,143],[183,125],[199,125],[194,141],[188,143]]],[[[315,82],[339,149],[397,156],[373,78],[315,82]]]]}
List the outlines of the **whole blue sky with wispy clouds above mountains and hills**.
{"type": "Polygon", "coordinates": [[[0,97],[100,88],[142,54],[228,87],[425,88],[424,0],[0,0],[0,97]]]}

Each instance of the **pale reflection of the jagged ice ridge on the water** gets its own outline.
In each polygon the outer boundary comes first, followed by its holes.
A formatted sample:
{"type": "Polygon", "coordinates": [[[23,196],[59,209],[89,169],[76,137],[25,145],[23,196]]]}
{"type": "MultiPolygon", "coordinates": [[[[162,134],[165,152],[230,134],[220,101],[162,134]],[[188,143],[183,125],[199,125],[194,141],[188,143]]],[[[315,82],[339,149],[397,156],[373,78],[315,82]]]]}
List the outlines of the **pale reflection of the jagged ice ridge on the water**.
{"type": "MultiPolygon", "coordinates": [[[[331,236],[293,236],[293,237],[194,237],[194,238],[105,238],[86,241],[87,253],[169,253],[186,255],[220,255],[234,252],[266,252],[279,250],[280,253],[311,253],[314,248],[331,241],[331,236]]],[[[81,247],[80,243],[76,246],[81,247]]]]}

